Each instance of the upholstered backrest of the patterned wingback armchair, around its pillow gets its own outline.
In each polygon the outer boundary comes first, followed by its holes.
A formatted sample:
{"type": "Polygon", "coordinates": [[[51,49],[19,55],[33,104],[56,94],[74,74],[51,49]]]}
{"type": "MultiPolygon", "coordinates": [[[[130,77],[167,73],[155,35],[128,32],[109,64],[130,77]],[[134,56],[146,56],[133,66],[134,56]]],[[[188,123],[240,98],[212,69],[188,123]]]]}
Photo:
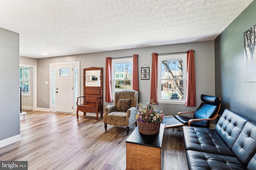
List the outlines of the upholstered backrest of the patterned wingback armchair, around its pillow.
{"type": "Polygon", "coordinates": [[[115,92],[115,106],[117,106],[119,99],[130,99],[131,106],[136,107],[138,104],[138,92],[135,90],[121,90],[115,92]]]}

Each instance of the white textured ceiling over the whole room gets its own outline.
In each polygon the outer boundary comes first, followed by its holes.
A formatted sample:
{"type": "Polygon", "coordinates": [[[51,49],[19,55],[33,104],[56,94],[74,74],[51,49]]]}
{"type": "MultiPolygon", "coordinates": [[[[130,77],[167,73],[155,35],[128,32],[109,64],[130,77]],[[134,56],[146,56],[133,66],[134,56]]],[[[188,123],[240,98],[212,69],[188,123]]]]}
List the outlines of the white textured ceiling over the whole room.
{"type": "Polygon", "coordinates": [[[214,40],[252,1],[0,0],[0,27],[20,56],[93,53],[214,40]]]}

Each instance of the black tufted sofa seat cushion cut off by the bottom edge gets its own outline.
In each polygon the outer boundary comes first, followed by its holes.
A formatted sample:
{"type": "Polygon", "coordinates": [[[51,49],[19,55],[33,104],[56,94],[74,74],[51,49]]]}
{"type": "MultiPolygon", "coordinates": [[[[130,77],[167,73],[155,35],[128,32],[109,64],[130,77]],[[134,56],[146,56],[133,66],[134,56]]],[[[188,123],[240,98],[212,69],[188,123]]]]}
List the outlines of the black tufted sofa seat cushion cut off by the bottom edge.
{"type": "Polygon", "coordinates": [[[245,170],[242,162],[233,156],[223,156],[194,150],[186,151],[190,170],[245,170]]]}

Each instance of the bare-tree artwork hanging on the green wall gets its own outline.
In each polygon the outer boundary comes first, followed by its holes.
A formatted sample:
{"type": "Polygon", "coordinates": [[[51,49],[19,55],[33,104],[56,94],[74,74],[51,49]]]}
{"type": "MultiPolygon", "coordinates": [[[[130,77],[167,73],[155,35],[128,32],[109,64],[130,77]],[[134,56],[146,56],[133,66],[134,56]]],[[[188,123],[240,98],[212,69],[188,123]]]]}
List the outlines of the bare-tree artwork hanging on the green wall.
{"type": "Polygon", "coordinates": [[[244,32],[245,81],[256,82],[256,25],[244,32]]]}

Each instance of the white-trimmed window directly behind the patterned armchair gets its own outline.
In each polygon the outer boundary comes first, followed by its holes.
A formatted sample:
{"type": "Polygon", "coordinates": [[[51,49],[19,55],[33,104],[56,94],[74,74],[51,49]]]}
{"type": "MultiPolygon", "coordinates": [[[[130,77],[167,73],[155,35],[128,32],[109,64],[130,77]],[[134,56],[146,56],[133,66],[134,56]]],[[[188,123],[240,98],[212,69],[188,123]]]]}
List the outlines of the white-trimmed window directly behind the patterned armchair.
{"type": "Polygon", "coordinates": [[[132,89],[132,58],[112,59],[112,98],[116,91],[132,89]]]}

